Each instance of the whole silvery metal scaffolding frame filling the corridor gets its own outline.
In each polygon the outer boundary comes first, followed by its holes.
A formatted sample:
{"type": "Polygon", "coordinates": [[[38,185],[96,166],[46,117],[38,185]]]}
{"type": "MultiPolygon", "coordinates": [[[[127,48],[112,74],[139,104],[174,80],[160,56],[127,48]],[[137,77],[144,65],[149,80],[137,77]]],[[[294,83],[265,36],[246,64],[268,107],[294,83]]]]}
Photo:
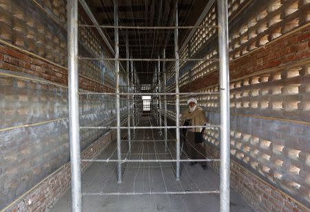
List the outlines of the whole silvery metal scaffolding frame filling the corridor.
{"type": "MultiPolygon", "coordinates": [[[[137,118],[137,95],[142,95],[143,93],[136,92],[136,87],[138,86],[137,75],[134,70],[134,61],[158,61],[158,72],[160,68],[160,62],[163,61],[163,77],[164,77],[164,91],[167,92],[166,84],[166,71],[165,71],[165,61],[174,61],[175,62],[175,83],[176,83],[176,92],[171,93],[156,93],[156,95],[164,95],[164,108],[167,109],[167,95],[176,96],[176,126],[171,127],[167,126],[167,114],[164,116],[164,126],[161,127],[148,127],[148,129],[161,129],[165,128],[165,147],[167,147],[167,129],[174,128],[176,129],[176,160],[169,160],[169,162],[176,162],[176,180],[180,180],[180,127],[179,115],[180,115],[180,93],[179,93],[179,61],[209,61],[209,59],[179,59],[178,56],[178,29],[195,29],[195,28],[218,28],[218,50],[219,50],[219,59],[212,61],[219,61],[219,70],[220,70],[220,211],[229,211],[229,50],[228,50],[228,10],[227,10],[227,0],[218,0],[218,25],[205,25],[205,26],[178,26],[178,1],[176,1],[175,9],[175,25],[171,27],[125,27],[118,25],[118,1],[114,0],[114,26],[98,25],[96,20],[92,16],[90,10],[86,11],[87,14],[91,17],[94,25],[79,25],[78,24],[78,1],[81,2],[83,8],[87,7],[87,4],[83,0],[68,0],[68,96],[69,96],[69,135],[70,135],[70,160],[71,160],[71,185],[72,185],[72,211],[82,211],[82,191],[81,191],[81,162],[87,160],[81,160],[80,152],[80,143],[79,143],[79,130],[90,128],[90,127],[80,127],[79,126],[79,75],[78,75],[78,61],[79,60],[103,60],[103,61],[114,61],[115,62],[115,71],[116,71],[116,93],[97,93],[101,95],[116,95],[116,127],[107,127],[107,129],[116,129],[116,140],[117,140],[117,158],[115,162],[118,163],[118,183],[121,183],[121,129],[127,129],[130,134],[130,129],[143,129],[136,127],[135,120],[137,118]],[[104,59],[104,58],[87,58],[79,57],[78,50],[78,27],[94,27],[99,30],[99,34],[103,36],[104,41],[106,41],[105,35],[100,33],[101,28],[114,28],[114,59],[104,59]],[[163,51],[163,59],[158,56],[158,59],[133,59],[132,56],[129,57],[129,45],[126,41],[126,59],[119,58],[119,43],[118,43],[118,30],[122,28],[127,29],[170,29],[174,30],[174,53],[175,59],[166,59],[165,50],[163,51]],[[132,74],[132,89],[133,93],[121,94],[120,92],[120,61],[126,61],[126,72],[127,72],[127,85],[130,86],[130,71],[132,74]],[[131,68],[129,68],[129,62],[131,68]],[[120,112],[120,96],[127,95],[127,109],[128,109],[128,127],[121,127],[121,112],[120,112]],[[130,127],[130,95],[133,97],[133,109],[134,116],[132,118],[132,126],[130,127]]],[[[85,9],[86,10],[86,9],[85,9]]],[[[102,31],[101,31],[102,32],[102,31]]],[[[110,50],[112,47],[110,43],[107,43],[110,50]]],[[[160,76],[158,76],[160,78],[160,76]]],[[[160,83],[158,83],[160,84],[160,83]]],[[[87,94],[96,94],[96,93],[87,93],[87,94]]],[[[145,93],[147,94],[147,93],[145,93]]],[[[189,93],[187,93],[189,94],[189,93]]],[[[206,93],[200,93],[206,94],[206,93]]],[[[149,94],[147,94],[149,95],[149,94]]],[[[141,103],[139,103],[141,104],[141,103]]],[[[140,116],[140,115],[138,115],[140,116]]],[[[192,126],[189,126],[192,127],[192,126]]],[[[195,126],[200,127],[200,126],[195,126]]],[[[99,129],[99,127],[97,127],[99,129]]],[[[96,129],[97,129],[96,128],[96,129]]],[[[130,143],[130,139],[128,140],[130,143]]],[[[207,161],[217,161],[218,159],[207,159],[207,161]]],[[[90,160],[92,162],[96,160],[90,160]]],[[[110,160],[112,162],[112,160],[110,160]]],[[[144,160],[136,160],[138,162],[145,162],[144,160]]],[[[195,160],[186,160],[186,161],[195,161],[195,160]]],[[[107,161],[105,161],[107,162],[107,161]]],[[[126,160],[125,162],[130,162],[126,160]]],[[[164,161],[163,161],[164,162],[164,161]]],[[[211,193],[212,191],[206,191],[211,193]]],[[[188,193],[188,192],[187,192],[188,193]]],[[[103,195],[103,193],[100,193],[103,195]]],[[[134,195],[136,193],[127,193],[124,195],[134,195]]],[[[165,192],[167,194],[167,192],[165,192]]],[[[173,194],[173,192],[171,193],[173,194]]],[[[183,192],[186,194],[186,192],[183,192]]],[[[83,194],[84,195],[84,194],[83,194]]],[[[85,194],[87,195],[87,194],[85,194]]],[[[112,193],[111,193],[112,195],[112,193]]],[[[118,193],[117,195],[120,195],[118,193]]]]}

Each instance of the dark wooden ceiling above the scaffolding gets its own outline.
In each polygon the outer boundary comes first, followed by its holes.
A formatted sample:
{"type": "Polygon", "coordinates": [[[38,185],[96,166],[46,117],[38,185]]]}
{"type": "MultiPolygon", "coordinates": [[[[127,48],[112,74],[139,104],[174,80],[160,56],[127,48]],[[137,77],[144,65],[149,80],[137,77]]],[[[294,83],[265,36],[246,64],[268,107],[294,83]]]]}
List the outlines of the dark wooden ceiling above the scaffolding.
{"type": "MultiPolygon", "coordinates": [[[[179,0],[178,25],[194,25],[208,0],[179,0]]],[[[113,0],[89,0],[88,6],[100,25],[114,25],[113,0]]],[[[118,25],[120,26],[172,26],[176,16],[176,0],[118,0],[118,25]]],[[[190,30],[179,30],[179,45],[190,30]]],[[[114,29],[103,28],[114,46],[114,29]]],[[[129,50],[135,59],[157,59],[166,49],[166,58],[174,58],[173,30],[119,30],[120,58],[126,58],[125,36],[128,34],[129,50]]],[[[152,83],[157,62],[136,61],[134,67],[141,83],[152,83]]],[[[125,63],[123,64],[125,67],[125,63]]]]}

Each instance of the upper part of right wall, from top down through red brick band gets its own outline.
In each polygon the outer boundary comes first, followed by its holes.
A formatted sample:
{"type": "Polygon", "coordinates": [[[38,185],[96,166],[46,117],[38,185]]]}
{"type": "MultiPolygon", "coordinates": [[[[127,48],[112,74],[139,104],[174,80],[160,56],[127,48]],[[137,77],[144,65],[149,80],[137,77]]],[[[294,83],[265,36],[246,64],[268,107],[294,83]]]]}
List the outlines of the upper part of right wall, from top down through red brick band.
{"type": "MultiPolygon", "coordinates": [[[[229,59],[231,69],[236,66],[251,72],[274,67],[282,63],[307,59],[307,29],[309,29],[310,4],[303,0],[261,0],[261,1],[229,1],[229,59]],[[236,11],[239,10],[238,14],[236,11]],[[234,12],[235,11],[235,12],[234,12]],[[280,37],[301,31],[298,38],[278,42],[280,37]],[[274,43],[278,43],[273,45],[274,43]],[[265,50],[265,47],[271,47],[265,50]],[[255,58],[251,52],[260,52],[255,58]],[[238,64],[234,61],[238,60],[238,64]],[[253,63],[254,62],[254,63],[253,63]],[[236,64],[236,65],[235,65],[236,64]]],[[[201,25],[216,25],[216,6],[212,6],[201,25]]],[[[196,30],[182,52],[180,58],[216,59],[218,57],[218,41],[216,30],[202,28],[196,30]]],[[[309,36],[308,36],[309,38],[309,36]]],[[[169,69],[168,87],[174,89],[174,67],[169,69]]],[[[231,70],[232,71],[232,70],[231,70]]],[[[237,74],[246,73],[236,70],[237,74]]],[[[234,74],[232,71],[231,74],[234,74]]],[[[218,83],[218,61],[198,61],[196,63],[180,63],[180,89],[200,89],[218,83]],[[185,85],[186,84],[186,85],[185,85]],[[194,87],[193,87],[194,86],[194,87]],[[183,87],[183,88],[182,88],[183,87]]],[[[231,75],[231,78],[236,76],[231,75]]]]}

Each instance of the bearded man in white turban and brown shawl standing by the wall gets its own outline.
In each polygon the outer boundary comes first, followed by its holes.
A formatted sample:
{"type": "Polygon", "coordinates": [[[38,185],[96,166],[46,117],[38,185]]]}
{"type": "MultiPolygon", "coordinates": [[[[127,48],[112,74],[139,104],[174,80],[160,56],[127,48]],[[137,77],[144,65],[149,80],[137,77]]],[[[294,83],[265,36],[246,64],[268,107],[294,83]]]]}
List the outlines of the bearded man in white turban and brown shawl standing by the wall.
{"type": "MultiPolygon", "coordinates": [[[[207,117],[203,108],[197,106],[196,98],[189,98],[187,100],[188,109],[186,109],[181,116],[181,124],[183,126],[203,126],[207,124],[207,117]]],[[[191,159],[205,159],[205,148],[201,144],[203,142],[204,127],[183,128],[183,141],[185,142],[185,149],[187,155],[191,159]],[[186,134],[187,133],[187,134],[186,134]]],[[[194,166],[197,162],[191,162],[189,165],[194,166]]],[[[207,162],[200,162],[201,167],[207,170],[207,162]]]]}

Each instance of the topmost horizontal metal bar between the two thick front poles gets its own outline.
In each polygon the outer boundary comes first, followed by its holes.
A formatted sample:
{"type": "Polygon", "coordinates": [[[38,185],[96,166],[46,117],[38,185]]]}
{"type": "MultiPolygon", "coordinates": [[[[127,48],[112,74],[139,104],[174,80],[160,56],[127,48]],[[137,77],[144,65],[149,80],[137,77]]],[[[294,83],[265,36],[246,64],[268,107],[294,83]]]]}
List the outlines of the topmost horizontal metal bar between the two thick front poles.
{"type": "Polygon", "coordinates": [[[86,28],[118,28],[118,29],[136,29],[136,30],[175,30],[175,29],[193,29],[193,28],[218,28],[217,25],[185,25],[185,26],[130,26],[130,25],[90,25],[79,24],[79,27],[86,28]]]}

